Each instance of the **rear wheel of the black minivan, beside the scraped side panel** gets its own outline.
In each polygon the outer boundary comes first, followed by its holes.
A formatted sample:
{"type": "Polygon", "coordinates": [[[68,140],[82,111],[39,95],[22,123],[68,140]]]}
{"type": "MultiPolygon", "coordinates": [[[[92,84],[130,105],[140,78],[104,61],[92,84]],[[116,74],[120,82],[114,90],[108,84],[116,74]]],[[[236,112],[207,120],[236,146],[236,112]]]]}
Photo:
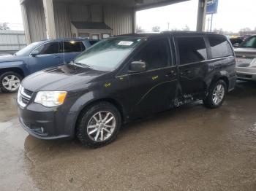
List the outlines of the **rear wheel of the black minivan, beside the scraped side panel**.
{"type": "Polygon", "coordinates": [[[215,109],[222,106],[227,94],[227,84],[220,79],[215,82],[208,90],[206,98],[203,100],[203,104],[210,109],[215,109]]]}

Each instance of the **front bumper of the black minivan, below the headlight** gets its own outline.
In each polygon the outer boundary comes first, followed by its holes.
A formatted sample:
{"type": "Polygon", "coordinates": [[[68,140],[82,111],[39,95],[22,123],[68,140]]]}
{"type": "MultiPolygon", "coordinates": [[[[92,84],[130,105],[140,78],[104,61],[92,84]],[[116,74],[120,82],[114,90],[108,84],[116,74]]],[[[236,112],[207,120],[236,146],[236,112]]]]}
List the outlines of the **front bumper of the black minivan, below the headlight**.
{"type": "Polygon", "coordinates": [[[74,136],[75,112],[32,103],[25,108],[18,105],[18,114],[22,127],[38,139],[71,139],[74,136]]]}

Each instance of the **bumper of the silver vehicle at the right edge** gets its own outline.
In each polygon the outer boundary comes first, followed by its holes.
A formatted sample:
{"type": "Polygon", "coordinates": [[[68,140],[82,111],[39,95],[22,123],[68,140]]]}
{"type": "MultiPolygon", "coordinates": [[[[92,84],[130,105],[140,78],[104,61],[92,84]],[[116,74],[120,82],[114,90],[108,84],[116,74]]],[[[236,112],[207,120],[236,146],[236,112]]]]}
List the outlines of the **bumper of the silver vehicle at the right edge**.
{"type": "Polygon", "coordinates": [[[237,79],[256,81],[256,67],[236,67],[237,79]]]}

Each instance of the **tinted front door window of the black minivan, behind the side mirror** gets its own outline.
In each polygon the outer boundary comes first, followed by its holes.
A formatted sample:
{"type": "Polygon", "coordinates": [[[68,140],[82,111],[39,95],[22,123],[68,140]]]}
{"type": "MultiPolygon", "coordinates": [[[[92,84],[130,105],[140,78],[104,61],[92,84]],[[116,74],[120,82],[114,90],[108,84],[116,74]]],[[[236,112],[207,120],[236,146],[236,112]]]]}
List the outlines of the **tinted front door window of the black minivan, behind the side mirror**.
{"type": "Polygon", "coordinates": [[[169,50],[167,38],[155,39],[148,42],[133,60],[146,62],[148,70],[161,69],[168,66],[169,50]]]}

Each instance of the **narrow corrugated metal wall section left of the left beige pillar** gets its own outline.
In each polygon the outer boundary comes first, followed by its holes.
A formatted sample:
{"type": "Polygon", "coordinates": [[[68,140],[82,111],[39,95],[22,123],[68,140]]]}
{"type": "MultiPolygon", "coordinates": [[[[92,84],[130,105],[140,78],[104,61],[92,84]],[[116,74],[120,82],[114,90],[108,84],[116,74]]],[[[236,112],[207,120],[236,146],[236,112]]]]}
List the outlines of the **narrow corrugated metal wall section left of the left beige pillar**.
{"type": "Polygon", "coordinates": [[[31,42],[46,39],[45,13],[42,0],[26,1],[31,42]]]}

